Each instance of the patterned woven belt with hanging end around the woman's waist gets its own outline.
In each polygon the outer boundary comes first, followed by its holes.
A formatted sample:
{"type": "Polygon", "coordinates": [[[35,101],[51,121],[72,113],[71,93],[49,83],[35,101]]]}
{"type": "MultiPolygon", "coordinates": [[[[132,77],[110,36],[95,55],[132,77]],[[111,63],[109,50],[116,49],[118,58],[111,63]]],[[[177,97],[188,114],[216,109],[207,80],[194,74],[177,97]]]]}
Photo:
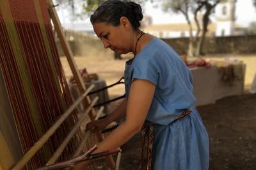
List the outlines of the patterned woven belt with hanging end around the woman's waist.
{"type": "MultiPolygon", "coordinates": [[[[173,120],[171,123],[180,120],[181,118],[184,118],[185,116],[188,116],[188,114],[191,112],[191,109],[188,109],[178,118],[173,120]]],[[[152,149],[153,149],[153,142],[154,142],[154,125],[149,123],[144,123],[143,127],[141,128],[141,165],[140,169],[152,169],[152,149]],[[144,162],[144,148],[147,150],[147,160],[146,164],[143,164],[144,162]]]]}

